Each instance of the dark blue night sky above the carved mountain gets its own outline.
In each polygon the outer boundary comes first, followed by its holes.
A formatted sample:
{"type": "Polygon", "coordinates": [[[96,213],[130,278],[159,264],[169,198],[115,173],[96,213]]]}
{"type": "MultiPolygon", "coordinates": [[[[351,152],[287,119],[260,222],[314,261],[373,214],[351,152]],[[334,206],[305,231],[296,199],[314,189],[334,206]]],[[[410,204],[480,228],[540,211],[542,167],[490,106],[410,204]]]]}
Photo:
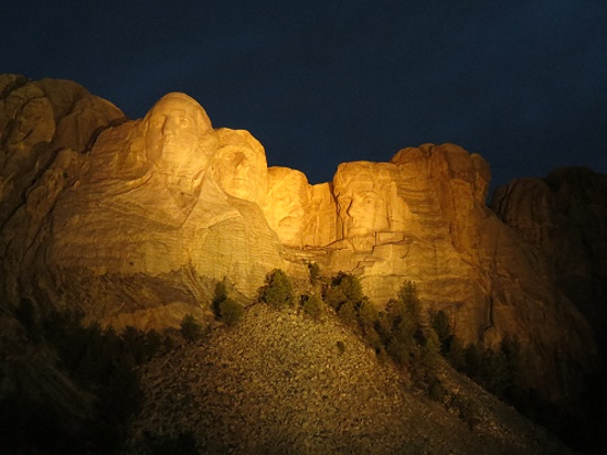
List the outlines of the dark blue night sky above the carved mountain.
{"type": "Polygon", "coordinates": [[[130,118],[185,91],[312,183],[425,142],[482,154],[493,185],[607,173],[604,0],[11,3],[0,73],[73,79],[130,118]]]}

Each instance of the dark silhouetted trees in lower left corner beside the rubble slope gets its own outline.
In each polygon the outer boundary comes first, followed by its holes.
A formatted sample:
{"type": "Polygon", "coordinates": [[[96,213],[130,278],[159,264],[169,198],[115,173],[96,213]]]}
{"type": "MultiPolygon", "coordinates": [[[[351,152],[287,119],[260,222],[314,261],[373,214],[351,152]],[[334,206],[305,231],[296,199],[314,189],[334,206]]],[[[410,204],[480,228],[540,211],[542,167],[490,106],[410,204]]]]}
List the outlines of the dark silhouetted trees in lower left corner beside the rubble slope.
{"type": "Polygon", "coordinates": [[[19,306],[18,319],[28,333],[35,331],[35,340],[29,335],[28,343],[56,353],[49,357],[54,361],[50,368],[72,381],[76,397],[92,401],[81,403],[88,413],[67,418],[64,407],[71,404],[53,401],[53,394],[32,397],[20,390],[6,396],[0,402],[0,446],[10,453],[118,453],[127,421],[143,400],[135,367],[164,349],[162,336],[134,327],[118,334],[98,323],[85,324],[79,311],[43,313],[30,301],[19,306]]]}

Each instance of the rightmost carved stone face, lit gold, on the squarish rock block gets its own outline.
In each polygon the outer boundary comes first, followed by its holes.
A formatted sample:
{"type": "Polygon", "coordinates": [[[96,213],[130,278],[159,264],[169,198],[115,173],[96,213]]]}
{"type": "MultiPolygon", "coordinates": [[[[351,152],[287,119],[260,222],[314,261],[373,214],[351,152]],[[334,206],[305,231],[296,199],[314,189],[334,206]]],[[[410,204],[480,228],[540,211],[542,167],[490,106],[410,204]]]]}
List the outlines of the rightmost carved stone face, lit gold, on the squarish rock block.
{"type": "Polygon", "coordinates": [[[333,180],[343,238],[404,228],[406,204],[398,197],[396,171],[387,163],[339,166],[333,180]]]}

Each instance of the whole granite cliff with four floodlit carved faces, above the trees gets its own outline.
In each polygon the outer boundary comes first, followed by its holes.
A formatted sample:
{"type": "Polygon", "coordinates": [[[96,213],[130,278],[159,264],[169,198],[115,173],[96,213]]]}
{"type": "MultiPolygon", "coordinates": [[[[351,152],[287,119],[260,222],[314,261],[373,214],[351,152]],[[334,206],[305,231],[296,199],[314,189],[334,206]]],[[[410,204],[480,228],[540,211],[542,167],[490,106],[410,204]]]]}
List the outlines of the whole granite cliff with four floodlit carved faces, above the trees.
{"type": "MultiPolygon", "coordinates": [[[[555,271],[549,250],[484,205],[491,176],[478,154],[424,144],[388,163],[343,163],[332,182],[310,185],[268,169],[251,133],[213,128],[184,94],[128,120],[74,83],[3,75],[0,93],[2,295],[13,304],[175,326],[187,312],[210,316],[224,278],[251,301],[270,270],[303,281],[313,261],[327,277],[356,274],[377,306],[415,281],[464,343],[518,337],[524,382],[545,397],[566,396],[592,369],[585,315],[596,301],[581,312],[571,289],[595,259],[572,273],[563,256],[555,271]],[[557,285],[565,271],[569,284],[557,285]]],[[[578,223],[572,201],[585,193],[562,192],[578,223]]],[[[579,241],[605,248],[600,232],[579,241]]]]}

